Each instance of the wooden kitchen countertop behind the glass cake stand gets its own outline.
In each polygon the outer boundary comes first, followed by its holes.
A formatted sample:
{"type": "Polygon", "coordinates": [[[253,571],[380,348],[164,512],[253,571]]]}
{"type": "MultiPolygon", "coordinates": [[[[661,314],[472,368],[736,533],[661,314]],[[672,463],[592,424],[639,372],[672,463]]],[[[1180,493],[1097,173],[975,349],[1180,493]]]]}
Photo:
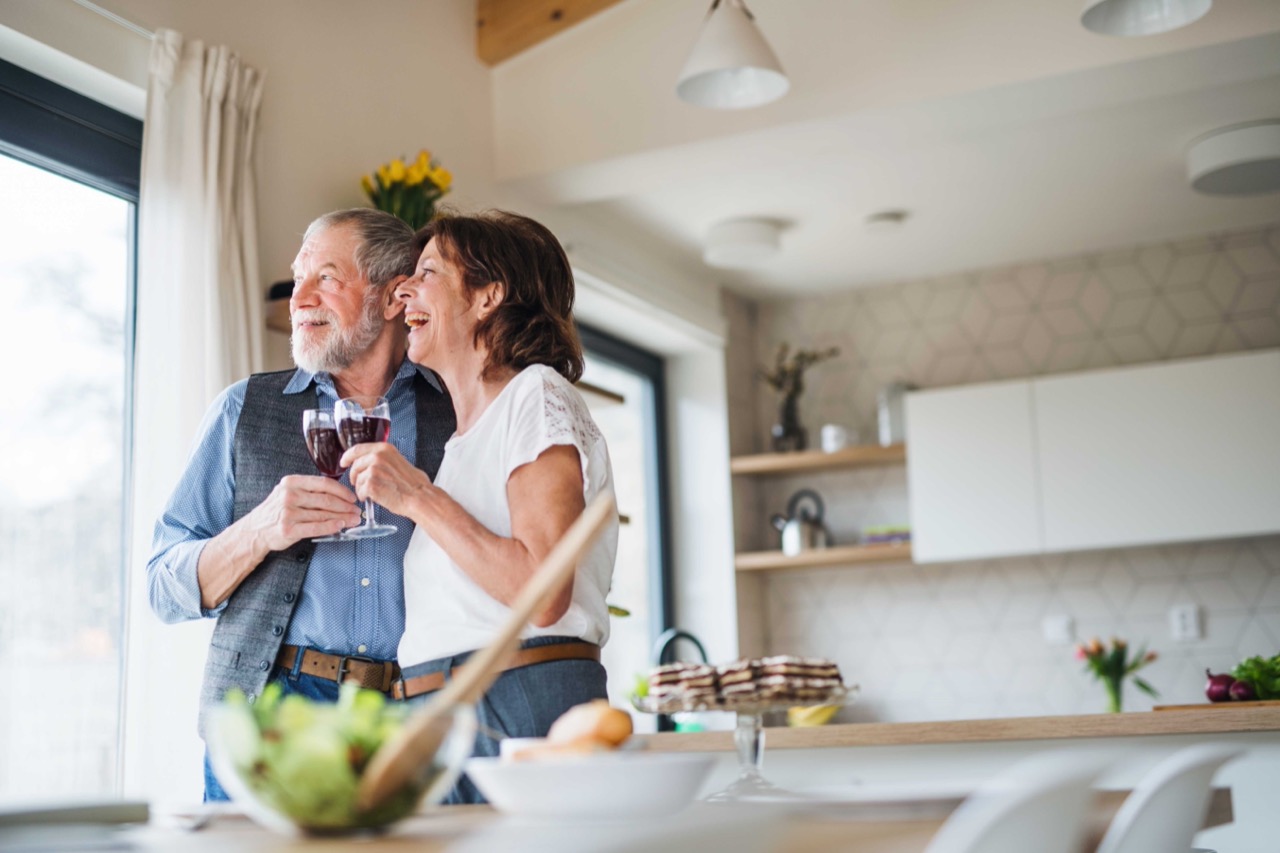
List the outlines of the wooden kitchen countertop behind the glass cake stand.
{"type": "MultiPolygon", "coordinates": [[[[1206,704],[1128,713],[1061,717],[1006,717],[937,722],[858,722],[810,729],[765,729],[768,748],[891,747],[983,740],[1053,740],[1062,738],[1132,738],[1140,735],[1280,731],[1280,706],[1206,704]]],[[[732,731],[648,735],[650,749],[717,752],[733,749],[732,731]]]]}

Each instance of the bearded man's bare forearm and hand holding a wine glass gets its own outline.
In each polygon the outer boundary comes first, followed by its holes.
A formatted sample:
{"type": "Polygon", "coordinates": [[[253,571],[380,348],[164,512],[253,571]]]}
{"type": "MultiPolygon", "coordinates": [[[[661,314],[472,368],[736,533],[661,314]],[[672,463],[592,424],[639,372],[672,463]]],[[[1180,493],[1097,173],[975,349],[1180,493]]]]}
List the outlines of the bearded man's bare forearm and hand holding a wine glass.
{"type": "Polygon", "coordinates": [[[212,610],[224,602],[271,551],[357,524],[356,496],[346,485],[324,476],[285,476],[265,501],[200,552],[196,576],[201,607],[212,610]]]}

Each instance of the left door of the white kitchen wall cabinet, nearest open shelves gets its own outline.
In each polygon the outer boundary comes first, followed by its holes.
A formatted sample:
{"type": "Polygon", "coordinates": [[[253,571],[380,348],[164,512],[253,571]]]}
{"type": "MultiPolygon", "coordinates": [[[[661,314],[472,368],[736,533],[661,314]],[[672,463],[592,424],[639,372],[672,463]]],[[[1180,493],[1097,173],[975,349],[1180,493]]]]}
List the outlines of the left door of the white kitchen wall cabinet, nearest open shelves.
{"type": "Polygon", "coordinates": [[[916,562],[1041,549],[1029,382],[906,397],[916,562]]]}

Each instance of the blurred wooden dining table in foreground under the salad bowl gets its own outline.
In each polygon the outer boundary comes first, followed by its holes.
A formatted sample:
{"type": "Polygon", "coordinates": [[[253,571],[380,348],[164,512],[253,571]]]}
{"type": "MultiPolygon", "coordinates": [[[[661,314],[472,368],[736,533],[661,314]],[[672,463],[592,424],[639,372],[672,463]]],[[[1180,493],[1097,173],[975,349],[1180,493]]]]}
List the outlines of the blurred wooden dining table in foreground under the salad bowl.
{"type": "MultiPolygon", "coordinates": [[[[1097,847],[1102,833],[1128,792],[1098,792],[1089,840],[1097,847]]],[[[810,804],[764,803],[719,806],[695,803],[678,816],[645,821],[535,821],[507,817],[488,806],[453,806],[413,816],[378,835],[288,836],[259,827],[243,815],[228,811],[206,824],[189,815],[155,813],[148,825],[119,831],[133,850],[184,853],[279,853],[314,850],[415,850],[417,853],[530,853],[540,850],[627,853],[685,853],[719,849],[785,853],[920,853],[928,847],[947,813],[960,799],[940,798],[897,811],[864,803],[829,800],[810,804]],[[922,806],[924,806],[922,812],[922,806]],[[724,844],[716,844],[719,839],[724,844]],[[634,844],[630,843],[634,840],[634,844]]],[[[1231,792],[1215,788],[1204,829],[1233,820],[1231,792]]]]}

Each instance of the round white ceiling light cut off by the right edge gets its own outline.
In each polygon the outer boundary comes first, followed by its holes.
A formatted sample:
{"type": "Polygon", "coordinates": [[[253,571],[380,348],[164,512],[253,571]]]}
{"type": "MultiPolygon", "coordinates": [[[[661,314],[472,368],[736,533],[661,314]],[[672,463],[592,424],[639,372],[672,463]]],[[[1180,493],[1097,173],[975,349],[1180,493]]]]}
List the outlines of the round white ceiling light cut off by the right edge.
{"type": "Polygon", "coordinates": [[[1280,119],[1224,127],[1192,143],[1187,179],[1211,196],[1280,191],[1280,119]]]}

